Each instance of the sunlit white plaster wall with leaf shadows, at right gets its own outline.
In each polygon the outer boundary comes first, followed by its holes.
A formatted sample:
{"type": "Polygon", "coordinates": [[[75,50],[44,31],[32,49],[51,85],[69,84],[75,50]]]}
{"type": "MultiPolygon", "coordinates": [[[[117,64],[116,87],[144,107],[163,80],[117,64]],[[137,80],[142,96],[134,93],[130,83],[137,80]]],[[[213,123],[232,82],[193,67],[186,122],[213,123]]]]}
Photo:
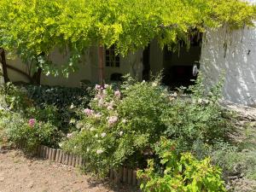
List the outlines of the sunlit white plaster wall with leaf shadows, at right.
{"type": "MultiPolygon", "coordinates": [[[[253,0],[256,2],[256,0],[253,0]]],[[[208,30],[201,50],[201,71],[208,87],[224,72],[224,99],[256,103],[256,28],[208,30]]]]}

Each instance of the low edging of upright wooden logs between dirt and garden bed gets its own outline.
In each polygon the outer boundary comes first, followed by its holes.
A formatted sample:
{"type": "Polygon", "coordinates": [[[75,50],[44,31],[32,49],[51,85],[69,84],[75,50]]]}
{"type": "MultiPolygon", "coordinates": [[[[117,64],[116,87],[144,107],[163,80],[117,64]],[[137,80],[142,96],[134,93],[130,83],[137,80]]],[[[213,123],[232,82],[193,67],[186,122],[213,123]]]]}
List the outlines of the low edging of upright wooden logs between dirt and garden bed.
{"type": "MultiPolygon", "coordinates": [[[[20,144],[19,148],[24,148],[24,144],[20,144]]],[[[86,161],[74,154],[68,154],[61,149],[49,148],[47,146],[39,146],[35,152],[38,158],[44,160],[55,161],[62,165],[82,167],[86,161]]],[[[108,177],[115,184],[125,183],[130,186],[139,186],[140,181],[137,179],[137,171],[122,167],[119,170],[110,170],[108,177]]]]}

